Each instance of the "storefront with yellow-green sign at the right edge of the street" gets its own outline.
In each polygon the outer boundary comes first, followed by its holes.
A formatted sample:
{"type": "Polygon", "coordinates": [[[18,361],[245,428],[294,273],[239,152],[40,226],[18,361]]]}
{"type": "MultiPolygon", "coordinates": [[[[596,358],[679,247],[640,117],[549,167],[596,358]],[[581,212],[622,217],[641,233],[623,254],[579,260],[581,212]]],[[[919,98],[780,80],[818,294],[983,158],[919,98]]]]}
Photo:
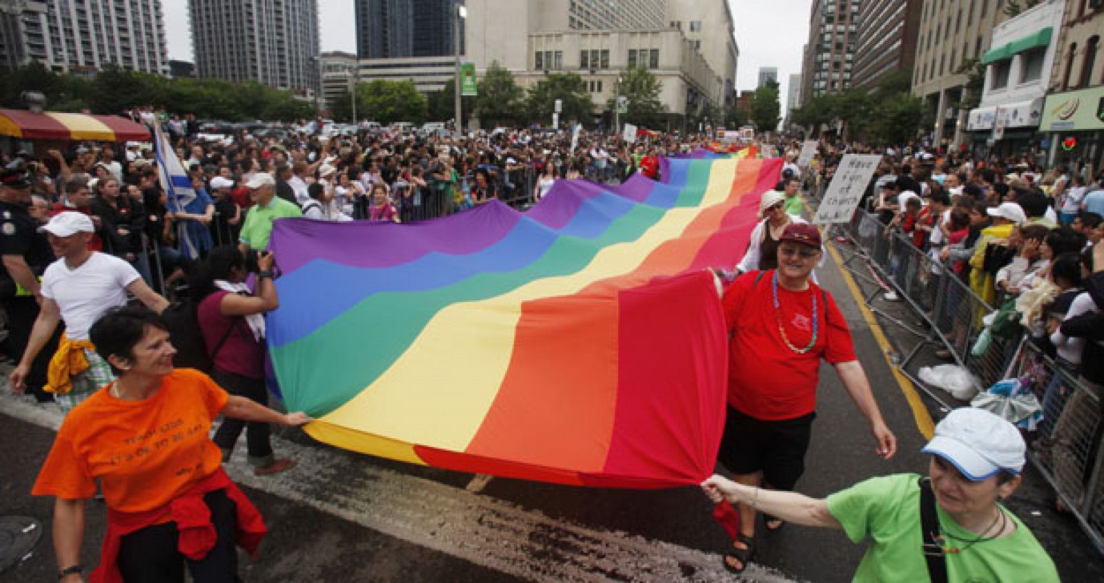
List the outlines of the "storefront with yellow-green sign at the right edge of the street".
{"type": "Polygon", "coordinates": [[[1093,177],[1104,170],[1104,86],[1057,93],[1043,105],[1051,165],[1093,177]]]}

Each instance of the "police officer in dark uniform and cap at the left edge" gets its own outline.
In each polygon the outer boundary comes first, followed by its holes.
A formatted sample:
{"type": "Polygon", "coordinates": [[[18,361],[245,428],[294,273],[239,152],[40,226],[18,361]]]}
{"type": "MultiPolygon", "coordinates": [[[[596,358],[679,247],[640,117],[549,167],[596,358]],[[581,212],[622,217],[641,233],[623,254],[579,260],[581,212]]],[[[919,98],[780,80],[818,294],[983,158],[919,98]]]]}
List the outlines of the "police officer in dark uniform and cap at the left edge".
{"type": "MultiPolygon", "coordinates": [[[[54,261],[46,237],[39,233],[39,222],[28,213],[30,205],[31,184],[26,173],[18,168],[0,172],[0,305],[8,314],[4,352],[13,358],[23,353],[31,337],[41,300],[39,278],[54,261]]],[[[40,402],[53,400],[42,386],[56,342],[55,335],[51,340],[54,348],[39,353],[28,375],[26,386],[40,402]]]]}

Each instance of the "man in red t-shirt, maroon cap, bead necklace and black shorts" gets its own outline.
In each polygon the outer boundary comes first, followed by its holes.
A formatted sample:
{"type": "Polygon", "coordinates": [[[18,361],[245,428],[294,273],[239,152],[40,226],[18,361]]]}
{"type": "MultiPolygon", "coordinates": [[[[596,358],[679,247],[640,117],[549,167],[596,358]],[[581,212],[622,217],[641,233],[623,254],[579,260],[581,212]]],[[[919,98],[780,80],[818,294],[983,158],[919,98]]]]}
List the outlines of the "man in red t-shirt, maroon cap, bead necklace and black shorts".
{"type": "MultiPolygon", "coordinates": [[[[749,272],[724,294],[732,340],[719,457],[741,484],[792,490],[805,471],[821,359],[836,368],[870,423],[878,455],[893,456],[896,437],[882,421],[856,359],[847,320],[831,296],[809,280],[820,261],[820,232],[792,223],[778,241],[777,269],[749,272]]],[[[767,528],[781,526],[767,517],[767,528]]],[[[740,537],[724,558],[729,570],[747,566],[754,536],[755,509],[740,505],[740,537]]]]}

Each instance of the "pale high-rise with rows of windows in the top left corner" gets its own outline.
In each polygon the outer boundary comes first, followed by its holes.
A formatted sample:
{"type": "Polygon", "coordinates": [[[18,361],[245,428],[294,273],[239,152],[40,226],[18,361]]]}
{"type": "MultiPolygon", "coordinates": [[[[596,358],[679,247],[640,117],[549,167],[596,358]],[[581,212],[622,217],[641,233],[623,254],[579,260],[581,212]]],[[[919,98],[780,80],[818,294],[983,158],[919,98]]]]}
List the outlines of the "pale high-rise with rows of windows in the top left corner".
{"type": "Polygon", "coordinates": [[[160,0],[0,0],[0,66],[93,74],[113,63],[169,73],[160,0]]]}

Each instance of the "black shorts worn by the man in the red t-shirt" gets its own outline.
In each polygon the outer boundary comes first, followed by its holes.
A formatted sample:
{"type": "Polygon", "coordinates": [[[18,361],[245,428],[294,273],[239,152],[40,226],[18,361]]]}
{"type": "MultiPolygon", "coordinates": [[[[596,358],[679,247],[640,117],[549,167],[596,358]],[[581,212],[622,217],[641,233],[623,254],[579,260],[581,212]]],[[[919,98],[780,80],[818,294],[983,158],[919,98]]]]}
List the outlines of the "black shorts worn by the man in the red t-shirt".
{"type": "Polygon", "coordinates": [[[729,405],[719,459],[729,471],[763,471],[763,481],[778,490],[793,490],[805,473],[813,420],[809,413],[792,420],[762,421],[729,405]]]}

